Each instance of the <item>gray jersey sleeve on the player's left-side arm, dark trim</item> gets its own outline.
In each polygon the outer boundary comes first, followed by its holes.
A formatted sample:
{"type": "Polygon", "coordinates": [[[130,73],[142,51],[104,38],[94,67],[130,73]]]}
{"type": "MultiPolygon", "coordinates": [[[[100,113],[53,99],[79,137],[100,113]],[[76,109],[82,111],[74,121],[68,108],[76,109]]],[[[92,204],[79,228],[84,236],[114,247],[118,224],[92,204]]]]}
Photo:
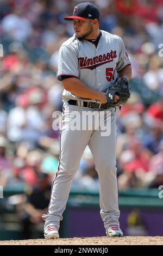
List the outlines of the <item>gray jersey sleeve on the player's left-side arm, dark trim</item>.
{"type": "Polygon", "coordinates": [[[79,77],[77,54],[67,45],[61,46],[59,50],[57,75],[59,81],[61,81],[61,76],[79,77]]]}

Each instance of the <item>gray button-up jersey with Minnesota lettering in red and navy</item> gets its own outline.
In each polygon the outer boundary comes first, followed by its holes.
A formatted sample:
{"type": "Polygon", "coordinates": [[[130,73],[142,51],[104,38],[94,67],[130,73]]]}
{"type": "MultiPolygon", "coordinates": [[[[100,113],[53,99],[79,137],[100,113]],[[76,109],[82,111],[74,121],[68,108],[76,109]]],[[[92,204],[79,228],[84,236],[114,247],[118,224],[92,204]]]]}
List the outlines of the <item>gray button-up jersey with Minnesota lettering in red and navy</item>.
{"type": "MultiPolygon", "coordinates": [[[[61,80],[62,75],[70,75],[92,89],[105,92],[108,85],[115,81],[117,72],[127,65],[130,65],[130,58],[119,36],[101,31],[96,48],[92,42],[79,40],[74,34],[60,47],[58,80],[61,80]]],[[[84,98],[64,90],[63,99],[84,98]]],[[[89,99],[85,101],[97,102],[89,99]]]]}

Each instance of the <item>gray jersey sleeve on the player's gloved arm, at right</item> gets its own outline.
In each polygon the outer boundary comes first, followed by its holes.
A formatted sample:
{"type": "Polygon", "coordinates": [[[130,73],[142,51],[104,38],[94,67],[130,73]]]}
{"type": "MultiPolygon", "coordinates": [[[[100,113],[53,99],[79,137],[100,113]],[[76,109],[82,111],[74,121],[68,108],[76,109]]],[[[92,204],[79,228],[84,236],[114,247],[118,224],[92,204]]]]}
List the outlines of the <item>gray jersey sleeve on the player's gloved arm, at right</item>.
{"type": "Polygon", "coordinates": [[[121,71],[127,65],[131,65],[130,58],[127,54],[124,43],[123,43],[122,39],[120,38],[120,54],[119,54],[119,60],[118,60],[117,66],[116,66],[117,72],[121,71]]]}

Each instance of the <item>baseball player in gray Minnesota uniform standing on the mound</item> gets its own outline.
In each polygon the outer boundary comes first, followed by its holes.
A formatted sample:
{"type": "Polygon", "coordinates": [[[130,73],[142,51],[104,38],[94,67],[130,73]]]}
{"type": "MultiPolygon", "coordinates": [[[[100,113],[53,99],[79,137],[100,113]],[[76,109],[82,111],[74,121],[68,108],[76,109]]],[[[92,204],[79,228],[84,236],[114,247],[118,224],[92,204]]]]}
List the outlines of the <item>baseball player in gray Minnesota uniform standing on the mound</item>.
{"type": "Polygon", "coordinates": [[[74,7],[73,15],[64,19],[73,21],[75,33],[59,50],[58,80],[62,81],[65,89],[62,95],[64,105],[58,172],[52,185],[48,214],[42,216],[45,238],[59,237],[59,223],[86,145],[92,152],[99,177],[100,213],[106,235],[122,236],[118,222],[114,107],[121,100],[121,95],[106,91],[117,77],[122,86],[128,83],[131,78],[130,59],[119,36],[99,30],[100,14],[96,5],[79,3],[74,7]],[[108,136],[102,136],[102,130],[100,127],[97,129],[96,124],[91,130],[67,129],[74,112],[83,114],[88,111],[105,114],[104,120],[110,125],[108,136]]]}

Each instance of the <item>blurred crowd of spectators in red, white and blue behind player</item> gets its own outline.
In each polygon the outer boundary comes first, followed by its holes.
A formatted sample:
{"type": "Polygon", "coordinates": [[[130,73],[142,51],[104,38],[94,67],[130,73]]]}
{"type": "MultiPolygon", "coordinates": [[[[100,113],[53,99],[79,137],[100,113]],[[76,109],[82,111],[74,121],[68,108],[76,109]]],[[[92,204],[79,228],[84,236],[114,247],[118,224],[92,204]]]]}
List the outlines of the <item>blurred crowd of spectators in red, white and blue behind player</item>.
{"type": "MultiPolygon", "coordinates": [[[[36,207],[38,193],[49,191],[58,168],[60,133],[53,125],[54,111],[62,109],[58,50],[73,35],[73,23],[62,17],[79,2],[0,1],[0,184],[33,188],[26,211],[33,212],[34,222],[40,214],[30,206],[36,207]]],[[[116,111],[118,186],[158,187],[163,184],[162,0],[90,2],[101,9],[100,28],[122,37],[133,68],[131,97],[116,111]]],[[[89,148],[72,188],[98,190],[89,148]]],[[[40,196],[45,203],[37,209],[47,209],[49,193],[40,196]]]]}

